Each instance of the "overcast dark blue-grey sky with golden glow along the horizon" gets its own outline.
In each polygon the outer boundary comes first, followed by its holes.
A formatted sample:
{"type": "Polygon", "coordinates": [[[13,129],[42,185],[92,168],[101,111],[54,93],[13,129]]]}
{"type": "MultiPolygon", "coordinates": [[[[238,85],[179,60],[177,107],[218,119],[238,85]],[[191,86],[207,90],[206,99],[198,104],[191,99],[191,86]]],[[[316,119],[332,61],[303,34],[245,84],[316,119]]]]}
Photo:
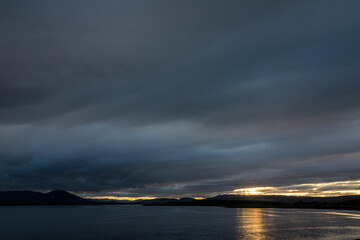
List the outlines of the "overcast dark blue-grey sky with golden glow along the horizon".
{"type": "Polygon", "coordinates": [[[359,10],[0,0],[0,190],[359,194],[359,10]]]}

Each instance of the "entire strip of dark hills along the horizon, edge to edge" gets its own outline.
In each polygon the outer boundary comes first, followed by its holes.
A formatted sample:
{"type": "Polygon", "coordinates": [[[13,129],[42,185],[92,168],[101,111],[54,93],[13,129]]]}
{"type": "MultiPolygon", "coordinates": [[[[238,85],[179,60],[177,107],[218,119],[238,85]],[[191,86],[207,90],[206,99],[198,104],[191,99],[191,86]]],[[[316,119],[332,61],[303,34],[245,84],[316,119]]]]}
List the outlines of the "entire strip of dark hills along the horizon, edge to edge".
{"type": "Polygon", "coordinates": [[[155,198],[136,201],[100,201],[84,199],[63,190],[48,193],[33,191],[0,191],[0,205],[89,205],[141,204],[168,206],[224,206],[275,208],[330,208],[360,210],[360,195],[339,197],[296,197],[279,195],[218,195],[196,200],[193,198],[155,198]]]}

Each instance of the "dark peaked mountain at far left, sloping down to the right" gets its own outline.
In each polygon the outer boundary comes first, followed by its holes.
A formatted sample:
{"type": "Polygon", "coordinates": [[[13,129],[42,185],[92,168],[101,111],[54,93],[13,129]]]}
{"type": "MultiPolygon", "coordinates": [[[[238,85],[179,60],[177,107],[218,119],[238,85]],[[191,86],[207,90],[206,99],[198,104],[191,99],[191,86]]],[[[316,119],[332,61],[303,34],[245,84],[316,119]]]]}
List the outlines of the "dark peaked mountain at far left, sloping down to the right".
{"type": "Polygon", "coordinates": [[[54,190],[48,193],[40,193],[33,191],[0,191],[0,205],[80,204],[91,204],[91,201],[62,190],[54,190]]]}

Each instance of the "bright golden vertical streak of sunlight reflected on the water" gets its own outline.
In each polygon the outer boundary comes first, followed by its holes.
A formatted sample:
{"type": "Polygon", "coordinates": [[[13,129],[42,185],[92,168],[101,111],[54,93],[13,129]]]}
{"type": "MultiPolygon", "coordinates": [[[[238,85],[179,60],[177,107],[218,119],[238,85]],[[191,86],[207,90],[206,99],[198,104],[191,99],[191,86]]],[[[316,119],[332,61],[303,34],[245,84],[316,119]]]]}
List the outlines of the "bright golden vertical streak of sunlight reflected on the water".
{"type": "Polygon", "coordinates": [[[239,240],[266,239],[266,225],[261,208],[238,208],[237,223],[239,240]]]}

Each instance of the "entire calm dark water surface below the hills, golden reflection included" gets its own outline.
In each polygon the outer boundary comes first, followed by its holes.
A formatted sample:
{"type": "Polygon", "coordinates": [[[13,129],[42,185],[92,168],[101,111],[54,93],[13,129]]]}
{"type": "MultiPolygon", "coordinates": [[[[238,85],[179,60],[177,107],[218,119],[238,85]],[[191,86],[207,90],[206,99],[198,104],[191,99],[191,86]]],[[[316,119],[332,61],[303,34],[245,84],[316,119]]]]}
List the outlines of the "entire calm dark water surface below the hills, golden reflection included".
{"type": "Polygon", "coordinates": [[[0,207],[0,239],[356,239],[360,212],[221,207],[0,207]]]}

